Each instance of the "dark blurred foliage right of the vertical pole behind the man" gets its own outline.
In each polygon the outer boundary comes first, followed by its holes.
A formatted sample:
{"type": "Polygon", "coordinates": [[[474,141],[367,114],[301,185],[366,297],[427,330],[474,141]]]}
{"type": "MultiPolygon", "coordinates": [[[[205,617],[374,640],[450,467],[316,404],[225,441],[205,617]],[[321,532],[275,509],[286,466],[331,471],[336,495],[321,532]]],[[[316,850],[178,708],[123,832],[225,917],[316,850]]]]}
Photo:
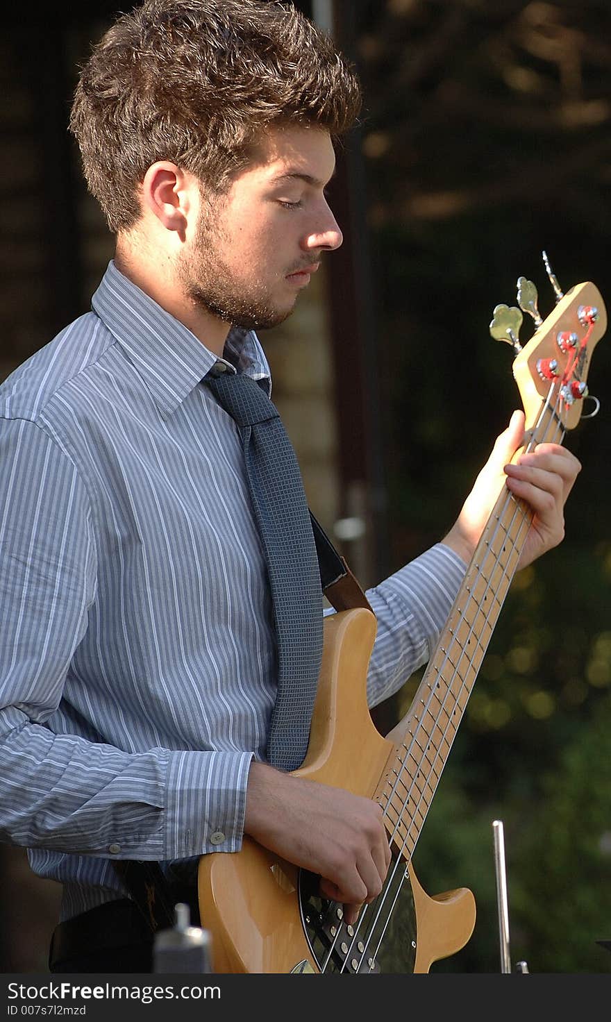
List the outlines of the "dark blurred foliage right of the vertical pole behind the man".
{"type": "MultiPolygon", "coordinates": [[[[545,317],[546,249],[564,290],[593,280],[611,308],[611,8],[357,8],[394,568],[442,537],[521,407],[488,334],[518,276],[545,317]]],[[[414,854],[425,890],[468,886],[477,903],[473,937],[432,971],[501,971],[502,820],[514,966],[611,972],[610,369],[604,337],[601,412],[566,438],[583,466],[566,539],[514,579],[414,854]]]]}

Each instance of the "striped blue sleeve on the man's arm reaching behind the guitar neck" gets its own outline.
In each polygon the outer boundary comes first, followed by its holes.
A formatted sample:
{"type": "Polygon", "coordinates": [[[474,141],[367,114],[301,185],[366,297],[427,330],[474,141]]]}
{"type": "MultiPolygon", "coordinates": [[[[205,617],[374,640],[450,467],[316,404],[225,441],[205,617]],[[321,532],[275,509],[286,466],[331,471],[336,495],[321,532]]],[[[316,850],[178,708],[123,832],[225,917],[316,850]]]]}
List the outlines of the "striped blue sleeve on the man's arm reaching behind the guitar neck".
{"type": "Polygon", "coordinates": [[[367,676],[370,707],[397,692],[430,659],[466,567],[454,550],[437,543],[367,591],[378,620],[367,676]]]}

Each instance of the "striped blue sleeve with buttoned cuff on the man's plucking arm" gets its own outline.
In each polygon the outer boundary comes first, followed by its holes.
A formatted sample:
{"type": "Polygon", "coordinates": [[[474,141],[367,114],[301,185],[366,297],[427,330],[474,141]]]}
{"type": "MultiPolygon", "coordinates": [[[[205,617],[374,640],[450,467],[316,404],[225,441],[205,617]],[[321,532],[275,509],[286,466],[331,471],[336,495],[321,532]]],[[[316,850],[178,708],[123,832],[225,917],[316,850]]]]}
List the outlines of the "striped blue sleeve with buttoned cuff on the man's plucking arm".
{"type": "Polygon", "coordinates": [[[128,753],[48,726],[95,596],[73,461],[36,423],[0,421],[0,840],[120,858],[236,850],[250,753],[128,753]]]}

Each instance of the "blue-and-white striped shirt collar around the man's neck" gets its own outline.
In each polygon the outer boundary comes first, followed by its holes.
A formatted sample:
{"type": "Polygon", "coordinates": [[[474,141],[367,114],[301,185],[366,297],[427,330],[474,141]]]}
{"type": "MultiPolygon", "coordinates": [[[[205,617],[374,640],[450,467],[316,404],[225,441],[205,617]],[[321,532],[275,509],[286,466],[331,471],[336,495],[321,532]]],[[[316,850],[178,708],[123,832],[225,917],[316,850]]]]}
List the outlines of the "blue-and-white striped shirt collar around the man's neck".
{"type": "MultiPolygon", "coordinates": [[[[219,362],[188,327],[121,273],[112,260],[91,305],[140,373],[163,417],[219,362]]],[[[264,381],[271,391],[270,367],[253,330],[232,327],[223,361],[238,373],[264,381]]]]}

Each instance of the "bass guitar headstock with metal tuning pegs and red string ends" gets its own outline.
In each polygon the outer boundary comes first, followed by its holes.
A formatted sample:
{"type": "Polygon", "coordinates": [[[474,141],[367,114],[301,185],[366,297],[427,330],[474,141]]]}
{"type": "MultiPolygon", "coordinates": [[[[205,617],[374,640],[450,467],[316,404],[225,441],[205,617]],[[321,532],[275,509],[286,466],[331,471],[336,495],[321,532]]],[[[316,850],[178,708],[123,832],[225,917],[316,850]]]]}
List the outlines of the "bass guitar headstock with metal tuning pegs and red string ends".
{"type": "MultiPolygon", "coordinates": [[[[526,428],[532,428],[542,408],[548,406],[562,429],[573,429],[583,414],[583,401],[590,397],[586,384],[590,361],[607,329],[607,313],[600,291],[589,281],[575,284],[563,294],[545,253],[544,259],[556,291],[555,309],[542,320],[536,308],[536,288],[531,281],[520,277],[520,308],[497,306],[490,334],[514,349],[513,374],[524,406],[526,428]],[[534,333],[524,347],[518,336],[523,319],[520,310],[528,313],[535,324],[534,333]]],[[[594,401],[590,416],[598,411],[598,401],[594,401]]]]}

